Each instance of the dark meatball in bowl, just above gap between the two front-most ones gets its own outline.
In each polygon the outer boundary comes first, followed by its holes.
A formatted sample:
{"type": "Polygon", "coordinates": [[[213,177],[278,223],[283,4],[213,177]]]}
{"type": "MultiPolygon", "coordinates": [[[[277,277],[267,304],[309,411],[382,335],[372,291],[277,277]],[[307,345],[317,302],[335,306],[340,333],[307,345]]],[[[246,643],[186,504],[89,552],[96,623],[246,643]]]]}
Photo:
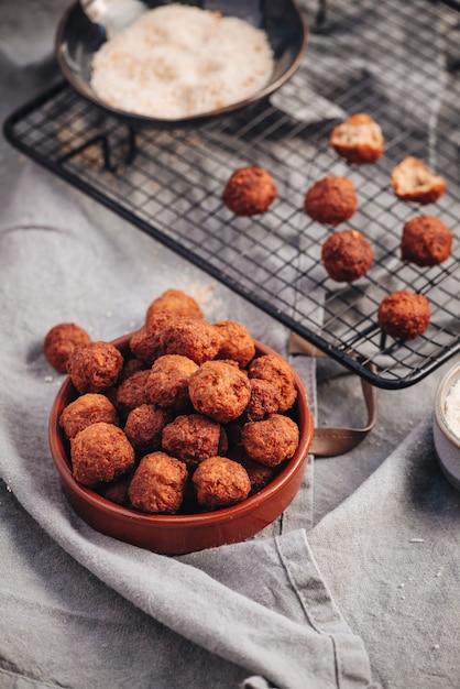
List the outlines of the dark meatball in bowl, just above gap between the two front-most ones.
{"type": "Polygon", "coordinates": [[[162,447],[188,467],[196,467],[218,453],[220,429],[220,424],[201,414],[176,416],[163,428],[162,447]]]}

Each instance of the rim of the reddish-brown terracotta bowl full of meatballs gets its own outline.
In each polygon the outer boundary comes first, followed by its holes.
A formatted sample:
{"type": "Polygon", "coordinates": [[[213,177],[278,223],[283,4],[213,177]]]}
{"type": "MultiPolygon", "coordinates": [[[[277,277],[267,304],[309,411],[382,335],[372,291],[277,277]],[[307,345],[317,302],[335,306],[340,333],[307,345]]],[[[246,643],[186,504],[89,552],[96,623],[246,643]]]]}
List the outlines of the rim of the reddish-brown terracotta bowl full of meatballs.
{"type": "MultiPolygon", "coordinates": [[[[127,348],[131,335],[132,333],[127,333],[119,338],[116,338],[114,340],[111,340],[111,344],[113,344],[118,349],[127,348]]],[[[264,344],[263,342],[255,340],[254,338],[253,341],[256,350],[259,349],[260,353],[276,353],[275,350],[270,348],[267,344],[264,344]]],[[[303,467],[309,453],[309,447],[311,445],[314,436],[314,417],[308,405],[308,395],[305,384],[299,374],[295,371],[295,369],[293,369],[293,371],[295,375],[295,385],[297,389],[297,400],[294,403],[294,406],[296,407],[296,412],[298,414],[298,424],[299,426],[302,424],[303,429],[303,433],[300,433],[299,445],[294,457],[286,463],[285,467],[282,468],[280,473],[266,486],[261,489],[258,493],[250,495],[240,503],[230,505],[229,507],[222,507],[221,510],[215,510],[209,512],[171,515],[147,514],[136,511],[134,508],[127,507],[124,505],[120,505],[118,503],[107,500],[96,491],[83,485],[74,479],[70,469],[70,460],[65,447],[66,439],[64,438],[64,433],[58,424],[61,412],[65,406],[64,398],[68,397],[72,394],[78,395],[72,383],[70,378],[66,376],[55,395],[48,417],[48,444],[51,455],[53,462],[64,483],[64,488],[77,494],[80,499],[83,499],[86,503],[89,503],[92,507],[103,507],[107,511],[108,516],[113,515],[117,517],[125,517],[127,520],[130,520],[139,525],[152,525],[156,527],[161,526],[166,529],[177,528],[180,526],[190,528],[194,525],[219,525],[220,523],[229,522],[232,518],[237,517],[240,518],[243,517],[245,514],[252,513],[260,504],[270,501],[276,495],[276,493],[281,489],[289,483],[291,479],[303,467]],[[298,400],[300,395],[305,401],[305,404],[303,405],[298,405],[298,400]]]]}

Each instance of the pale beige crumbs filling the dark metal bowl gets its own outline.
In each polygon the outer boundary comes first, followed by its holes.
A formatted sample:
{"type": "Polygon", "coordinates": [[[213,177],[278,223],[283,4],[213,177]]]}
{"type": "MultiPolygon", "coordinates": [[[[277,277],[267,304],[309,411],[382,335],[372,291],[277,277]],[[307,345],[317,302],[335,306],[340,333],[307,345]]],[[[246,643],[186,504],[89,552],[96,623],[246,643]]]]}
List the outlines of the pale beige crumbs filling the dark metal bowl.
{"type": "Polygon", "coordinates": [[[91,86],[112,108],[176,120],[250,98],[273,68],[264,31],[174,3],[146,11],[102,44],[91,86]]]}

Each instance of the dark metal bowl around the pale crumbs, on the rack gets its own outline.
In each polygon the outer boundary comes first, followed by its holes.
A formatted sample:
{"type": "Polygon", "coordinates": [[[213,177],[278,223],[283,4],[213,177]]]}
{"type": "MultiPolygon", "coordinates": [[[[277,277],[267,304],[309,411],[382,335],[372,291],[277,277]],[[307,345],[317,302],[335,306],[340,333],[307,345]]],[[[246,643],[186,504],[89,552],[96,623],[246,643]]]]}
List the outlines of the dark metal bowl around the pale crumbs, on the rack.
{"type": "MultiPolygon", "coordinates": [[[[146,9],[162,4],[168,3],[155,0],[145,1],[146,9]]],[[[196,124],[258,103],[283,86],[296,72],[304,57],[308,29],[295,0],[244,0],[240,3],[236,3],[234,0],[201,0],[201,2],[185,0],[184,4],[199,6],[205,10],[218,10],[224,15],[239,15],[266,32],[274,54],[275,68],[270,81],[262,90],[224,108],[175,120],[151,118],[112,108],[97,96],[90,85],[92,55],[107,41],[106,31],[88,19],[78,1],[65,12],[56,34],[55,55],[62,74],[78,94],[111,114],[127,120],[130,124],[165,128],[196,124]]]]}

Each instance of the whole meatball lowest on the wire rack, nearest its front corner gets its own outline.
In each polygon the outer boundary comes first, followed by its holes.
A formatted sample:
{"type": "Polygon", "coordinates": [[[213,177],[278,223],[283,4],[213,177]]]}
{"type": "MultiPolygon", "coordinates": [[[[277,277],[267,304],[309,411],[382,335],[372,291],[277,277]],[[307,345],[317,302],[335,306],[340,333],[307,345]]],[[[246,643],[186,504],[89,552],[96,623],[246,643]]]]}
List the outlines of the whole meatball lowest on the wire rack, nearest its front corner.
{"type": "Polygon", "coordinates": [[[429,302],[423,294],[401,289],[386,295],[377,313],[384,332],[397,340],[413,340],[428,328],[429,302]]]}

